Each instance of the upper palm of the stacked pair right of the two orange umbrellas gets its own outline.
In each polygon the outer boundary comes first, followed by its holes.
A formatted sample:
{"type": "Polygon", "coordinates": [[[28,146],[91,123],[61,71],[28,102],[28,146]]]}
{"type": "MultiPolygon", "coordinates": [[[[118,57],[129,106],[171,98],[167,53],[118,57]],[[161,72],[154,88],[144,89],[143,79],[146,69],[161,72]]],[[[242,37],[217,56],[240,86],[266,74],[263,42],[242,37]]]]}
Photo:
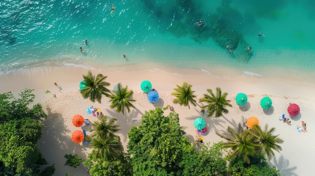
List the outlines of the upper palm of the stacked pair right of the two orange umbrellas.
{"type": "Polygon", "coordinates": [[[103,137],[106,138],[111,133],[118,132],[118,126],[115,122],[117,121],[117,118],[111,118],[107,121],[107,116],[102,115],[99,117],[99,121],[95,121],[92,123],[91,134],[92,137],[103,137]]]}

